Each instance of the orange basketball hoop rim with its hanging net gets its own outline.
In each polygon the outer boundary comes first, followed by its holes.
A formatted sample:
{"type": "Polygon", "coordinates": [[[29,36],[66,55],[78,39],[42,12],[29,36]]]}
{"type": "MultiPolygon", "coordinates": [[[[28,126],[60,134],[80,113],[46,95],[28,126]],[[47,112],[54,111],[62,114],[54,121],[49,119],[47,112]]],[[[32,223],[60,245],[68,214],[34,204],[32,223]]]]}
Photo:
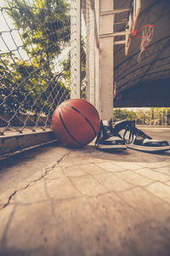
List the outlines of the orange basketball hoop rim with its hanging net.
{"type": "Polygon", "coordinates": [[[153,33],[154,33],[154,25],[144,25],[144,26],[141,26],[138,30],[133,31],[131,36],[132,38],[139,38],[139,39],[141,38],[138,62],[141,61],[142,53],[150,44],[150,41],[153,38],[153,33]]]}

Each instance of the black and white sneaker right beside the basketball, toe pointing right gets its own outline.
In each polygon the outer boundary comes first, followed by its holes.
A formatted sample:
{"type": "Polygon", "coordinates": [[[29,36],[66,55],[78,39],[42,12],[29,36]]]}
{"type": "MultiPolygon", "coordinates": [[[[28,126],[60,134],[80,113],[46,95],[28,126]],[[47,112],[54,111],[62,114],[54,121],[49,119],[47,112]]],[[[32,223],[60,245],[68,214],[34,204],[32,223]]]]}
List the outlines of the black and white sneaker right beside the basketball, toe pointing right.
{"type": "Polygon", "coordinates": [[[95,142],[98,149],[126,149],[127,146],[122,137],[116,133],[112,126],[112,120],[101,121],[99,134],[95,142]]]}

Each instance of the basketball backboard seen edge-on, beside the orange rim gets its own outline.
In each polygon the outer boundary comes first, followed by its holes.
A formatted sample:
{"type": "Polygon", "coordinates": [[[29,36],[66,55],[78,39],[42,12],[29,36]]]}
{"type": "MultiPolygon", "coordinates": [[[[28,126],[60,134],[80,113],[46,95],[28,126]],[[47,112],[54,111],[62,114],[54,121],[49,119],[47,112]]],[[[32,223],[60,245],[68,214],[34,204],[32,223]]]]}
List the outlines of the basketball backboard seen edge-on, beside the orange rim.
{"type": "Polygon", "coordinates": [[[128,22],[127,22],[127,28],[126,28],[127,33],[126,33],[125,55],[128,54],[128,49],[132,41],[131,35],[135,30],[135,26],[139,18],[140,10],[141,10],[141,0],[132,0],[131,10],[128,15],[128,22]]]}

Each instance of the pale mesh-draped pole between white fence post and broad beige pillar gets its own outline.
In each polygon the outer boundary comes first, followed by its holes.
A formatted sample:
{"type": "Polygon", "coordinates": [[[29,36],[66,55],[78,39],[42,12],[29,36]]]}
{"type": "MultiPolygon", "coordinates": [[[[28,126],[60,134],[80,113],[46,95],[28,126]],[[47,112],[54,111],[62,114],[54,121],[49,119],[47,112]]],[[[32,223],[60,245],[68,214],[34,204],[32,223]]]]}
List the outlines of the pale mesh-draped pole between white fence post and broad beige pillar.
{"type": "Polygon", "coordinates": [[[99,110],[99,0],[87,0],[87,100],[99,110]]]}

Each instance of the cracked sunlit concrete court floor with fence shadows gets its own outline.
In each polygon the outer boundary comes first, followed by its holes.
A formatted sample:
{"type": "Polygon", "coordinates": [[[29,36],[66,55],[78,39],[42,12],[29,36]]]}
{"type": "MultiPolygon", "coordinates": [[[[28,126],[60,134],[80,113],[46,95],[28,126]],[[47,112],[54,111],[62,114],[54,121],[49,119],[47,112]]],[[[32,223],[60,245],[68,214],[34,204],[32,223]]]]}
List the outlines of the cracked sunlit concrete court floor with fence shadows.
{"type": "Polygon", "coordinates": [[[170,151],[51,144],[3,160],[0,255],[170,255],[170,151]]]}

